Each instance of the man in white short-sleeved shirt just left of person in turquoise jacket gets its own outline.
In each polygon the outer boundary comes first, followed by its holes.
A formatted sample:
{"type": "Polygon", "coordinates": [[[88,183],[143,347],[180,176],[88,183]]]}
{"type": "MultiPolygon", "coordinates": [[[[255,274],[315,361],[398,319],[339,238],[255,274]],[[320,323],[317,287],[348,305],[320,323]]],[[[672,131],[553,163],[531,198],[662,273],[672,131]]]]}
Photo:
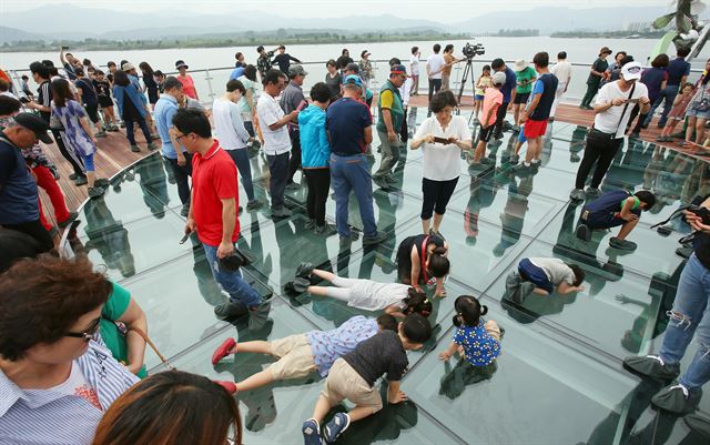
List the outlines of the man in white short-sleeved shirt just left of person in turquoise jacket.
{"type": "Polygon", "coordinates": [[[275,218],[288,218],[291,211],[284,206],[284,190],[288,179],[288,159],[291,138],[286,125],[295,122],[298,111],[284,114],[276,98],[286,87],[286,74],[278,70],[268,70],[263,77],[264,94],[256,103],[256,114],[264,136],[263,150],[268,161],[268,190],[271,192],[271,214],[275,218]]]}

